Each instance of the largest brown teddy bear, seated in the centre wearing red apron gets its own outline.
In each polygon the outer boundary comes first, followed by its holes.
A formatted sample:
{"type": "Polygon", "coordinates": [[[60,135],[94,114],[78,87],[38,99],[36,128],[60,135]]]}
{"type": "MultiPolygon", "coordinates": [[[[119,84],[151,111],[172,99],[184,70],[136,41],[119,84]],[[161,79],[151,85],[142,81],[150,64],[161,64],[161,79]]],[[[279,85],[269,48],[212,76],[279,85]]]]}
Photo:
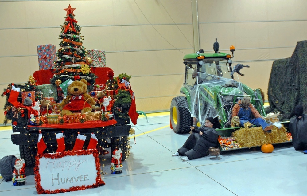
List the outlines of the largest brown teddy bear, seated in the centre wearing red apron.
{"type": "Polygon", "coordinates": [[[92,105],[95,105],[94,99],[89,99],[91,96],[86,93],[87,92],[87,81],[85,79],[81,79],[73,81],[67,87],[67,96],[63,99],[63,101],[59,104],[60,108],[62,108],[62,115],[72,114],[73,112],[80,112],[83,114],[84,112],[91,112],[92,105]],[[87,102],[84,105],[84,102],[87,102]],[[83,107],[84,105],[84,107],[83,107]]]}

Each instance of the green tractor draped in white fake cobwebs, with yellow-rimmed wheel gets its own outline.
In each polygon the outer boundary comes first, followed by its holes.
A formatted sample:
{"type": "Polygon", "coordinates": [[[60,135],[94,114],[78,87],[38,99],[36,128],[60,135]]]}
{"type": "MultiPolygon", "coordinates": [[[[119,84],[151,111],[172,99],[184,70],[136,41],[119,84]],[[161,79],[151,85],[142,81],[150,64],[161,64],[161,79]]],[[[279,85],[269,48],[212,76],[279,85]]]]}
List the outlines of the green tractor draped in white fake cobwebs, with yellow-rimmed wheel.
{"type": "MultiPolygon", "coordinates": [[[[217,42],[215,42],[216,44],[217,42]]],[[[248,65],[237,64],[232,67],[234,46],[230,47],[232,57],[228,53],[197,53],[184,56],[185,81],[180,92],[185,96],[174,97],[170,107],[170,127],[175,133],[188,133],[188,126],[204,125],[208,116],[220,123],[220,133],[231,128],[232,108],[243,96],[251,97],[251,104],[262,116],[266,116],[263,107],[261,89],[253,90],[234,80],[236,72],[248,65]]]]}

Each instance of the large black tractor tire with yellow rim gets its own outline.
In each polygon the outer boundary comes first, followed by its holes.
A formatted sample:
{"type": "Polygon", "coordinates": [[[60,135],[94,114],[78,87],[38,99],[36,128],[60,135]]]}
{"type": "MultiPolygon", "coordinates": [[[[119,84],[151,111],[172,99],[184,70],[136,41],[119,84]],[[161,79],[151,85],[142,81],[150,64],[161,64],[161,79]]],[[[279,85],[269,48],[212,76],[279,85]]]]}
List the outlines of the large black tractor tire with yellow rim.
{"type": "Polygon", "coordinates": [[[186,97],[174,97],[170,108],[170,123],[175,133],[188,133],[190,129],[187,126],[193,125],[193,118],[188,110],[188,101],[186,97]]]}

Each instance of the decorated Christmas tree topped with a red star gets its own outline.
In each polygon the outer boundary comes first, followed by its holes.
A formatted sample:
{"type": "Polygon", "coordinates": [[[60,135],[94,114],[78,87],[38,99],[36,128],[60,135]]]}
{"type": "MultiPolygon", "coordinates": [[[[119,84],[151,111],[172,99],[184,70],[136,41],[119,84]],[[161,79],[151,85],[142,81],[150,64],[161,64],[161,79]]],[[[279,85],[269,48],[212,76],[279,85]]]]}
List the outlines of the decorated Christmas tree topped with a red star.
{"type": "Polygon", "coordinates": [[[50,84],[59,86],[68,79],[85,79],[89,83],[87,89],[91,91],[97,76],[91,72],[88,66],[92,60],[87,58],[87,51],[82,46],[84,39],[83,36],[80,36],[81,27],[77,25],[73,13],[76,8],[69,5],[64,10],[67,14],[64,25],[61,25],[60,49],[57,51],[58,59],[55,62],[54,76],[51,78],[50,84]]]}

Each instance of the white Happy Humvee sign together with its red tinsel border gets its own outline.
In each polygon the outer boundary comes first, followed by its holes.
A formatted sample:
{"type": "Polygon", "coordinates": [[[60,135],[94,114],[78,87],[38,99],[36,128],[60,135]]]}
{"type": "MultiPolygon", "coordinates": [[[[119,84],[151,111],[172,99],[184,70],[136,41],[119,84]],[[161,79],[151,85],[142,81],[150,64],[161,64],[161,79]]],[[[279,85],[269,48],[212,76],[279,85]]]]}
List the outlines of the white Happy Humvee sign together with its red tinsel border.
{"type": "Polygon", "coordinates": [[[96,149],[37,155],[34,171],[38,194],[104,185],[96,149]]]}

